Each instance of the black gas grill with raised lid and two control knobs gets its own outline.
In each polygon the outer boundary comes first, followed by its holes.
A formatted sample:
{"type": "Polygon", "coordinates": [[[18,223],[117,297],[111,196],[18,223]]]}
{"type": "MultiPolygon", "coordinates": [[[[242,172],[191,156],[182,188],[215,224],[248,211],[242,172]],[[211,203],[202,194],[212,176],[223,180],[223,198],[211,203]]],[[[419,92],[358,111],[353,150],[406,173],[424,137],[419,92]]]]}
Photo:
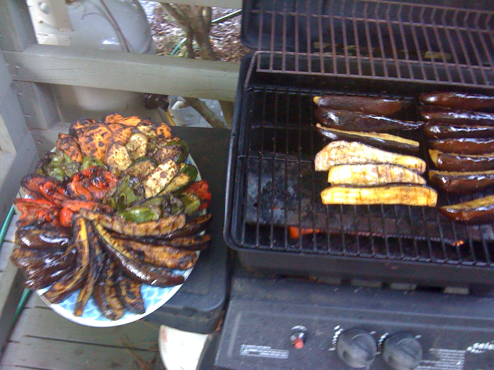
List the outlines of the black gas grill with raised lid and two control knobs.
{"type": "MultiPolygon", "coordinates": [[[[232,129],[224,238],[239,263],[217,367],[494,369],[493,225],[434,208],[323,206],[312,103],[328,93],[412,107],[421,92],[494,95],[490,8],[244,0],[242,37],[256,51],[241,64],[232,129]]],[[[421,133],[400,136],[428,158],[421,133]]],[[[438,205],[493,190],[440,194],[438,205]]]]}

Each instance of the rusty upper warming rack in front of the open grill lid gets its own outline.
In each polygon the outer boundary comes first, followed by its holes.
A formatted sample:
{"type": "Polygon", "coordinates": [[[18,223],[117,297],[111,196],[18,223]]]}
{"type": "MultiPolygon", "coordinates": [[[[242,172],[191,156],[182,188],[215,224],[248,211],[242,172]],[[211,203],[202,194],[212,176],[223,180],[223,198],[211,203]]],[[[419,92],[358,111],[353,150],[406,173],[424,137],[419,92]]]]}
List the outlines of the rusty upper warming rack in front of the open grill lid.
{"type": "Polygon", "coordinates": [[[257,50],[257,72],[494,89],[493,11],[384,0],[249,3],[242,35],[257,50]]]}

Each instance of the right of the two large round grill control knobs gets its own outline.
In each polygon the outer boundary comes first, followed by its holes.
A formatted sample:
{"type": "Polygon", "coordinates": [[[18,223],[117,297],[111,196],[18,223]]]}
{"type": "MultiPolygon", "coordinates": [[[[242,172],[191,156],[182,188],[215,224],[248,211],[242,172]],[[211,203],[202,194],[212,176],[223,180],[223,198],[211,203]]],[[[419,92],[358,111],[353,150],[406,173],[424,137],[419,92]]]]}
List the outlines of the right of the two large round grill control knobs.
{"type": "Polygon", "coordinates": [[[394,370],[413,370],[422,360],[422,346],[412,334],[399,333],[384,341],[382,356],[394,370]]]}

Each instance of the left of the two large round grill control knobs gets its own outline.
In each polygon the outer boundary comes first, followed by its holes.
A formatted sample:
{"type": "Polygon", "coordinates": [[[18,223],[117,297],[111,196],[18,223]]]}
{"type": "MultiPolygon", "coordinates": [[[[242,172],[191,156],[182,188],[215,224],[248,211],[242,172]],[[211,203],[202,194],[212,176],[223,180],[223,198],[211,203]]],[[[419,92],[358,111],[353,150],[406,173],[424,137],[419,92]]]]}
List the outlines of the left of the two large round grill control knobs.
{"type": "Polygon", "coordinates": [[[338,336],[336,353],[348,366],[367,368],[374,361],[377,351],[374,338],[363,329],[351,329],[338,336]]]}

